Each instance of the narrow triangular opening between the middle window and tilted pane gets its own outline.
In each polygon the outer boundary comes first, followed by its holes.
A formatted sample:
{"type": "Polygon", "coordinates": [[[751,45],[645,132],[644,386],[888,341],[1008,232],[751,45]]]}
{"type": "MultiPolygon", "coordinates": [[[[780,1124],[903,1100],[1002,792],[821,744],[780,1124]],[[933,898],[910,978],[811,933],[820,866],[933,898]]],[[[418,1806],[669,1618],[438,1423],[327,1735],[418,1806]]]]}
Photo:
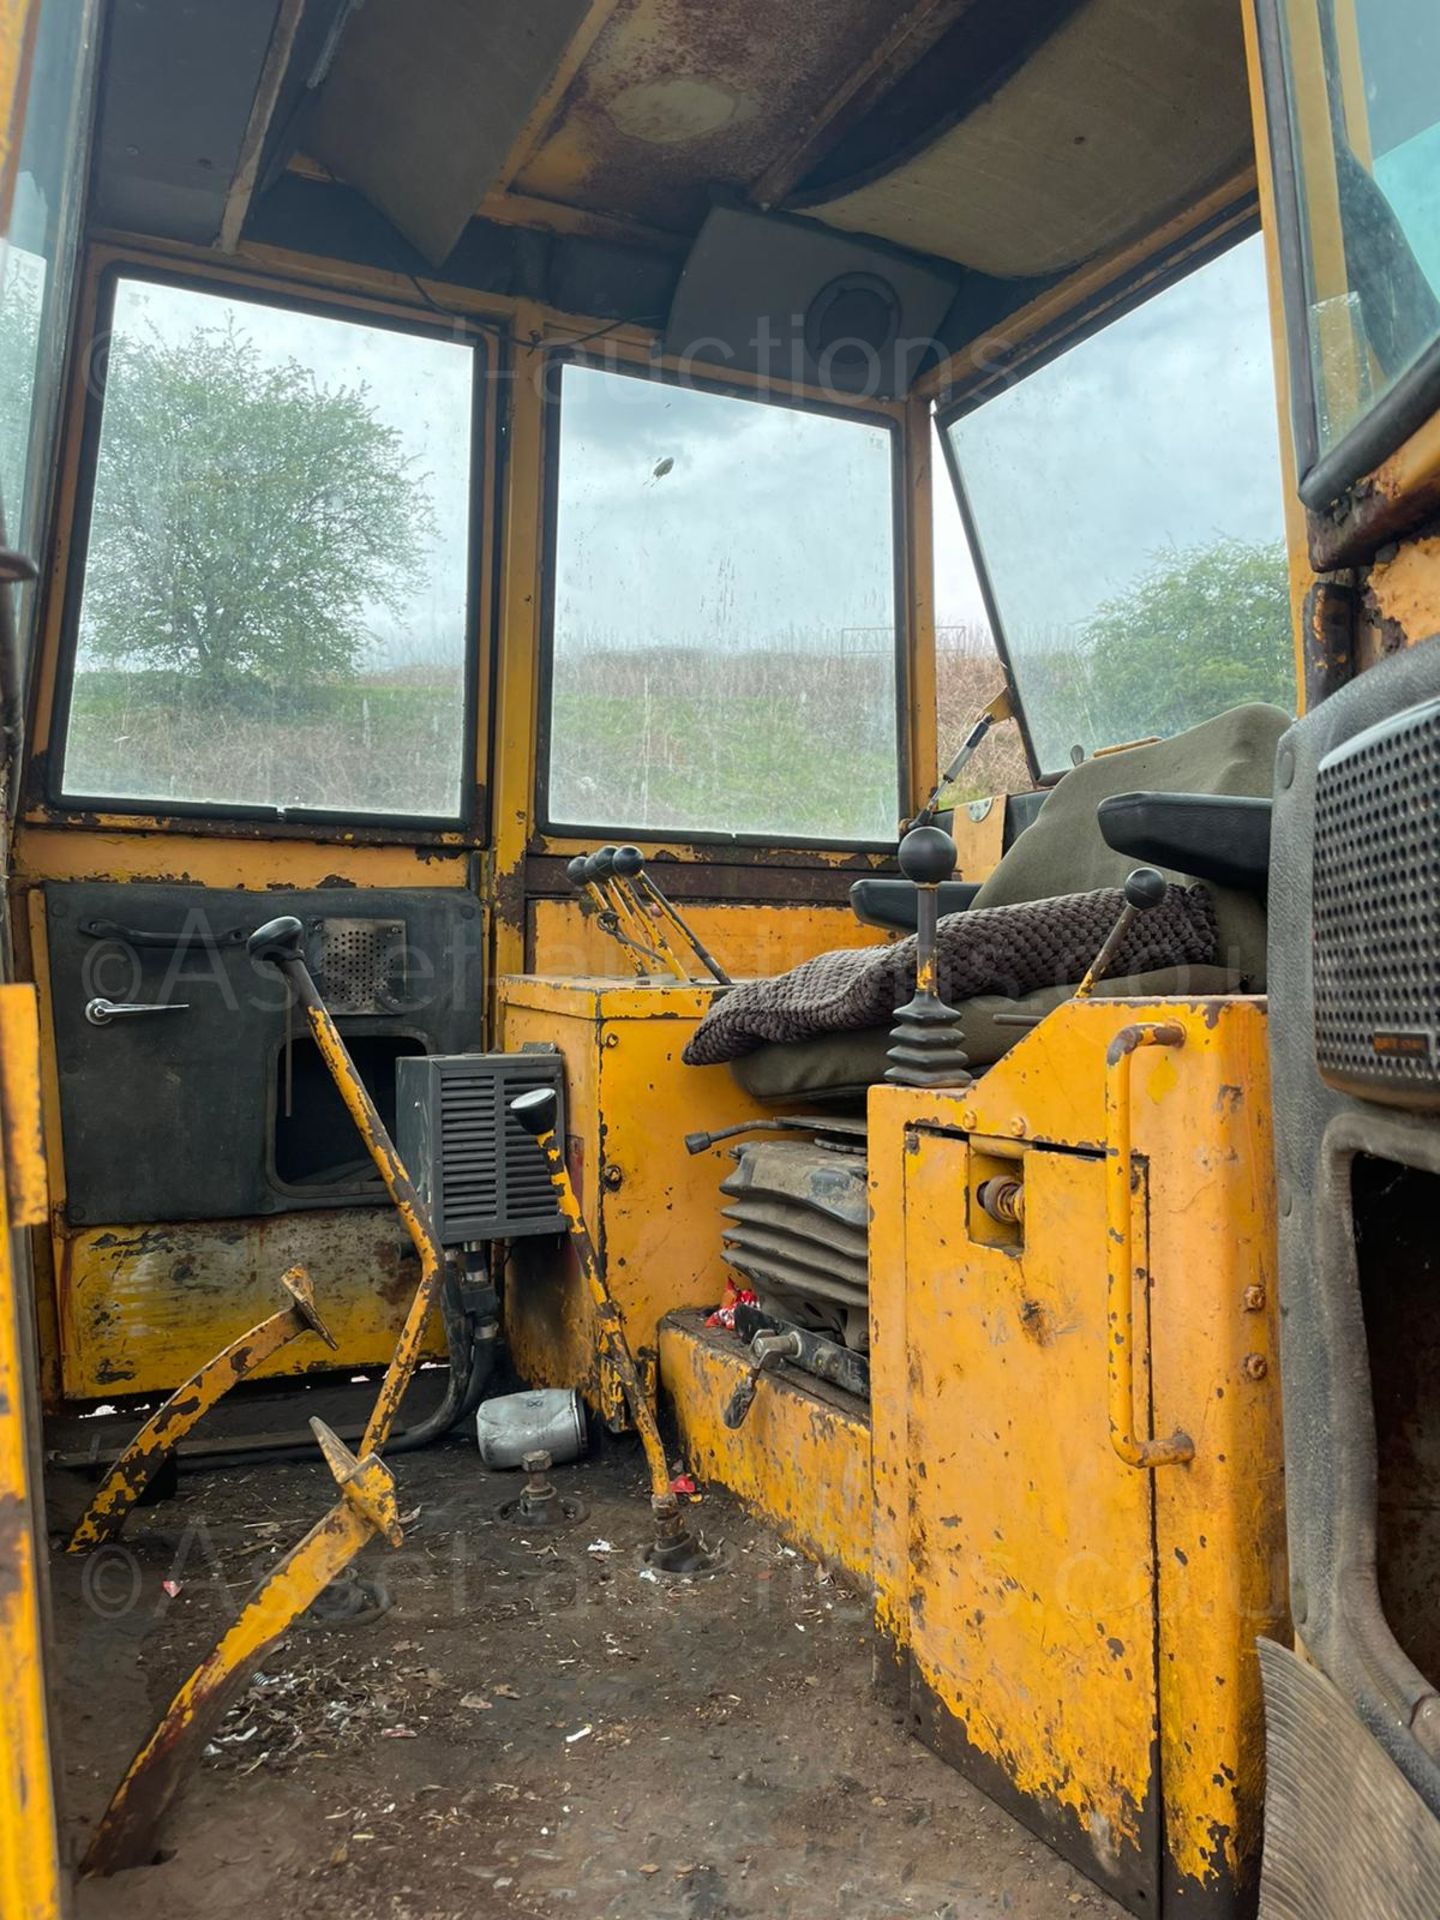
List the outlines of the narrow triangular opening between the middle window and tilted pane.
{"type": "MultiPolygon", "coordinates": [[[[935,733],[943,772],[979,710],[1004,687],[1004,668],[939,434],[935,440],[935,733]]],[[[991,793],[1027,793],[1033,785],[1020,728],[1002,720],[979,743],[952,791],[958,801],[979,801],[991,793]]]]}

